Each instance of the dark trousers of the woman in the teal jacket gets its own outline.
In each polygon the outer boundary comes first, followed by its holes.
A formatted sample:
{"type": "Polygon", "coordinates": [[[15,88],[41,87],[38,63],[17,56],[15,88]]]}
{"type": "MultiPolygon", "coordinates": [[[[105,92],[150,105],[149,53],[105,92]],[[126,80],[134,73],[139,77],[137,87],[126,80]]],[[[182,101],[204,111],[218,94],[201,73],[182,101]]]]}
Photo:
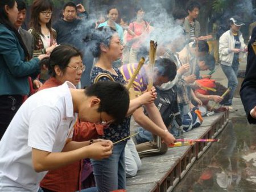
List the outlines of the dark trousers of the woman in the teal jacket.
{"type": "Polygon", "coordinates": [[[22,105],[22,95],[0,95],[0,140],[22,105]]]}

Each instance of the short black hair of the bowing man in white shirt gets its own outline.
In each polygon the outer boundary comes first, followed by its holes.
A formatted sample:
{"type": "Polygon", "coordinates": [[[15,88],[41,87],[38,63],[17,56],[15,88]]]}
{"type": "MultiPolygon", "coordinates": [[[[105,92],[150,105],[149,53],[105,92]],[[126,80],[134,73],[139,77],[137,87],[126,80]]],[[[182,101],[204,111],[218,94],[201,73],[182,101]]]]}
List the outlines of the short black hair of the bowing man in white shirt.
{"type": "Polygon", "coordinates": [[[99,81],[85,89],[85,95],[96,96],[101,100],[98,112],[106,112],[121,123],[130,105],[129,91],[125,86],[113,81],[99,81]]]}

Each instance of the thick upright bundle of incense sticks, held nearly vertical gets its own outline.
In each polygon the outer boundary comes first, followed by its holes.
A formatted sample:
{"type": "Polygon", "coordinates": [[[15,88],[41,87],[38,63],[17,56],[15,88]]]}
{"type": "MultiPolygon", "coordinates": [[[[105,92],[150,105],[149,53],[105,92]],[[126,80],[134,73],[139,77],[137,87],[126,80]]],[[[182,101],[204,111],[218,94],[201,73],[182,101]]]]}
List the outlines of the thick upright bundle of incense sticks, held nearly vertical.
{"type": "Polygon", "coordinates": [[[155,56],[156,56],[156,48],[158,47],[158,43],[155,41],[150,41],[150,52],[149,52],[149,68],[150,74],[148,75],[148,90],[151,90],[154,82],[154,67],[155,67],[155,56]]]}

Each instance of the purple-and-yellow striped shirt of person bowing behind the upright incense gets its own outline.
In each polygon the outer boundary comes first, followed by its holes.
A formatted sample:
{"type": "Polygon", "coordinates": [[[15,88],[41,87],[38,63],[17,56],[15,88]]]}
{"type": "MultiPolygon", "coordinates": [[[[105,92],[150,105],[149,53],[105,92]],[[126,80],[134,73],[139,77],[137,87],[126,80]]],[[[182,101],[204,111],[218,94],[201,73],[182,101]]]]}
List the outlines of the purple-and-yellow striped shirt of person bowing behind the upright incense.
{"type": "MultiPolygon", "coordinates": [[[[128,82],[130,78],[133,76],[137,67],[138,67],[138,64],[133,63],[133,64],[122,65],[119,68],[126,82],[128,82]]],[[[147,85],[148,85],[147,73],[144,66],[142,66],[141,70],[139,71],[137,77],[133,82],[134,91],[138,95],[141,95],[144,91],[147,90],[147,85]]]]}

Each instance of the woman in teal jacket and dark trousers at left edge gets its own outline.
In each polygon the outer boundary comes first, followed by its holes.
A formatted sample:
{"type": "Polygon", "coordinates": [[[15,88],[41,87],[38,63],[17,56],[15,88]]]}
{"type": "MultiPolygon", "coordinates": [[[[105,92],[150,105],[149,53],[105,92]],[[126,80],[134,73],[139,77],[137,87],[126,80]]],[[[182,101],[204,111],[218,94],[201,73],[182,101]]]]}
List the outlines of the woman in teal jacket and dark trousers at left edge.
{"type": "Polygon", "coordinates": [[[28,76],[40,72],[39,61],[31,59],[14,23],[18,16],[15,0],[0,1],[0,140],[11,119],[30,93],[28,76]],[[30,61],[29,61],[30,60],[30,61]]]}

